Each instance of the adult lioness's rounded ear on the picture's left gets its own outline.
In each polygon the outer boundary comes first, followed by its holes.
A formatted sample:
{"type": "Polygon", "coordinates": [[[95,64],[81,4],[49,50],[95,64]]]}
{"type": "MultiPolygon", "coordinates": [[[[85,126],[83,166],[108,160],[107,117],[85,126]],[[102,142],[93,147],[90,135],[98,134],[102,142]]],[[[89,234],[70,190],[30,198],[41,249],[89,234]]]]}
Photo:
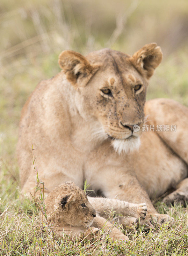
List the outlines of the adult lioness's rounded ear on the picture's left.
{"type": "Polygon", "coordinates": [[[63,51],[59,55],[59,65],[67,74],[67,80],[76,88],[85,86],[100,65],[90,65],[79,52],[63,51]]]}

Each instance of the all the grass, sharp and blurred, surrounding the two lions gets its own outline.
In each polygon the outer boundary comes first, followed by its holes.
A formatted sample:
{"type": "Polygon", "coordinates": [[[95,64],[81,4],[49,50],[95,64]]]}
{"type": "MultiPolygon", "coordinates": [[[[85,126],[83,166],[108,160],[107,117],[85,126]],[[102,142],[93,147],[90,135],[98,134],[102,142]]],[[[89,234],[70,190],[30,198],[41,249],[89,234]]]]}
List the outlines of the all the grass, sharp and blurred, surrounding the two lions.
{"type": "MultiPolygon", "coordinates": [[[[111,47],[129,54],[157,42],[164,58],[147,99],[188,106],[188,1],[41,0],[0,2],[0,255],[39,255],[39,210],[20,193],[15,156],[21,109],[39,81],[60,71],[58,54],[111,47]]],[[[32,156],[31,156],[32,157],[32,156]]],[[[155,204],[172,227],[133,230],[129,244],[54,240],[44,228],[41,255],[188,255],[188,208],[155,204]]]]}

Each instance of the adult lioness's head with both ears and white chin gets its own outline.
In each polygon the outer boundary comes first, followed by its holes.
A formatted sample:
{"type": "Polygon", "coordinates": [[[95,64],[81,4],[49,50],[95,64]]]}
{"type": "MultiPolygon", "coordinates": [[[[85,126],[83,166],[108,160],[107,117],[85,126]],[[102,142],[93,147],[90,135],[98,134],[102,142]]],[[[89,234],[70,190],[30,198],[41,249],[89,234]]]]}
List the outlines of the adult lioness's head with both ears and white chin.
{"type": "Polygon", "coordinates": [[[119,153],[139,146],[148,79],[162,56],[155,43],[133,56],[111,49],[86,57],[73,51],[59,56],[59,65],[76,90],[80,115],[93,122],[97,129],[93,136],[110,138],[119,153]]]}

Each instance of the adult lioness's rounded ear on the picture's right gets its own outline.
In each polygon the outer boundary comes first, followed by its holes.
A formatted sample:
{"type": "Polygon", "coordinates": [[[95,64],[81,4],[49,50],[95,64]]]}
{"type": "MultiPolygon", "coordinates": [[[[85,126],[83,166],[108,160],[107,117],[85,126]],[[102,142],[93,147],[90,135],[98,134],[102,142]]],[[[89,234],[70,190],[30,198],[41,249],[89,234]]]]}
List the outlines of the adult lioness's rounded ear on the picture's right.
{"type": "Polygon", "coordinates": [[[144,45],[139,51],[135,52],[130,61],[141,74],[149,79],[162,59],[161,47],[151,43],[144,45]]]}

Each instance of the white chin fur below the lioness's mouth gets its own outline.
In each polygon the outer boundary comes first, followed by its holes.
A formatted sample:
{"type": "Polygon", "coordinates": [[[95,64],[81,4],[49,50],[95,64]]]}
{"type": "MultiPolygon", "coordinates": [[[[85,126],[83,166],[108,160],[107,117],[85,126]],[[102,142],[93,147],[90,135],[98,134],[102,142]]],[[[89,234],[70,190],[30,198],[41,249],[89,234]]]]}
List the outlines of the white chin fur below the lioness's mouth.
{"type": "Polygon", "coordinates": [[[115,139],[112,140],[112,146],[116,152],[120,155],[122,152],[130,153],[134,150],[138,150],[140,147],[140,138],[133,137],[126,140],[115,139]]]}

